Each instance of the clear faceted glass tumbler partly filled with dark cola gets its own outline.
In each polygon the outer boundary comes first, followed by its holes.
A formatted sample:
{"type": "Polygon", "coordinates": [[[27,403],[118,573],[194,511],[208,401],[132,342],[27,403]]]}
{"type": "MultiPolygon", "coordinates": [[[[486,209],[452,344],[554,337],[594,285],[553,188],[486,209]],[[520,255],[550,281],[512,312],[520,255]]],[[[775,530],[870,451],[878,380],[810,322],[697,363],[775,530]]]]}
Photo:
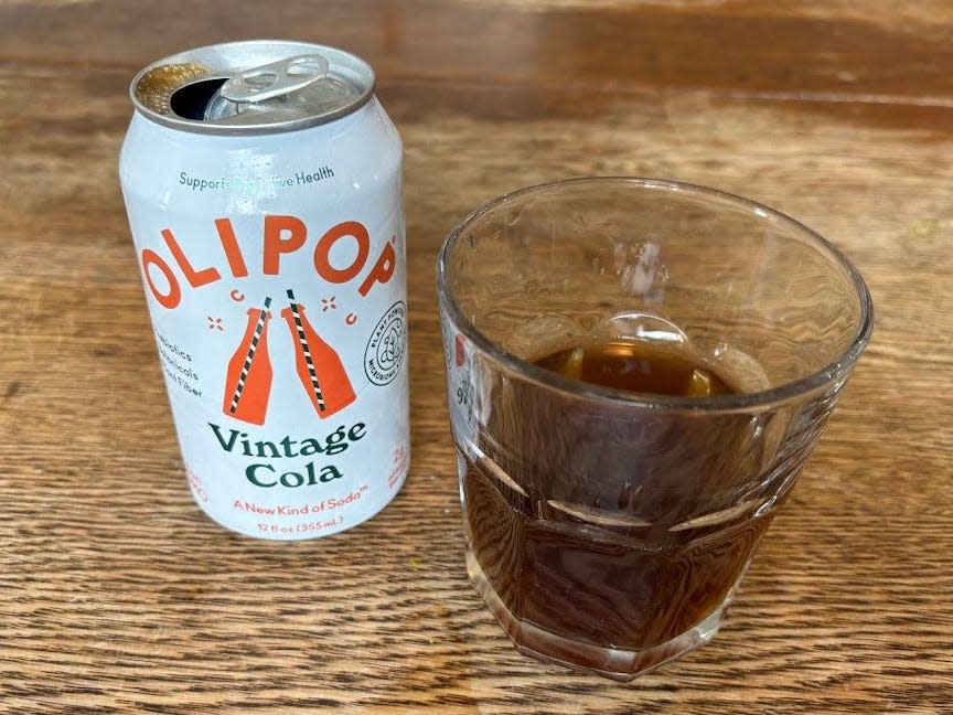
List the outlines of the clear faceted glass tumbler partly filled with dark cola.
{"type": "Polygon", "coordinates": [[[517,649],[628,681],[710,640],[869,340],[855,268],[745,199],[593,178],[476,210],[438,291],[468,572],[517,649]]]}

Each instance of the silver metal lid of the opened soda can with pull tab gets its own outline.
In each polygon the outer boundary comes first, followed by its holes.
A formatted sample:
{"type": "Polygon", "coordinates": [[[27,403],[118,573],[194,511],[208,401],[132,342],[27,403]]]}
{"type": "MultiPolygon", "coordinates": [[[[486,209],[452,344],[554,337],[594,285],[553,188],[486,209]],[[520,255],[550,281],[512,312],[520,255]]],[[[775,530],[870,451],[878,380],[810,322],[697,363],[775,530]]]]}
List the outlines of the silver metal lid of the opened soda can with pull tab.
{"type": "Polygon", "coordinates": [[[208,135],[292,131],[333,121],[371,99],[374,71],[347,52],[255,40],[199,47],[142,70],[130,95],[147,118],[208,135]]]}

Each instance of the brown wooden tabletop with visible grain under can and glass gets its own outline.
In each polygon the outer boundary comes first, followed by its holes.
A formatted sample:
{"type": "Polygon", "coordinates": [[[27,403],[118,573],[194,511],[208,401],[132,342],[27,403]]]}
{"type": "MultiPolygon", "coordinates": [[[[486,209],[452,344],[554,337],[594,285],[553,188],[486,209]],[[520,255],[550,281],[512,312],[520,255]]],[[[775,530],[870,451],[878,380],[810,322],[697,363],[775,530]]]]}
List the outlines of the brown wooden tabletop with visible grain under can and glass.
{"type": "Polygon", "coordinates": [[[0,711],[953,712],[945,0],[0,4],[0,711]],[[116,175],[136,70],[295,36],[366,57],[406,147],[413,467],[269,543],[185,487],[116,175]],[[874,340],[726,627],[619,685],[517,654],[467,580],[433,264],[503,191],[718,186],[839,245],[874,340]]]}

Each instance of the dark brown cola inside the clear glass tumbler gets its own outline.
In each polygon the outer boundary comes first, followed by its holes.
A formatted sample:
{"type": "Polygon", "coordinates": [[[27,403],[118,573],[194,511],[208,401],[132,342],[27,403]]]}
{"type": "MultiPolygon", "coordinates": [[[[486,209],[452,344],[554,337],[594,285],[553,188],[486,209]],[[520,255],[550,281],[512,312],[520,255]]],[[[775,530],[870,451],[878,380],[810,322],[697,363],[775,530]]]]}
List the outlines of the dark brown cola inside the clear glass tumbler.
{"type": "MultiPolygon", "coordinates": [[[[690,353],[646,343],[587,343],[535,362],[639,393],[732,392],[690,353]]],[[[753,510],[724,515],[761,468],[750,415],[636,414],[517,380],[495,384],[491,403],[463,490],[474,578],[502,600],[508,613],[497,617],[517,643],[514,626],[532,623],[645,651],[728,599],[770,522],[753,510]]],[[[557,660],[604,668],[561,643],[557,660]]]]}

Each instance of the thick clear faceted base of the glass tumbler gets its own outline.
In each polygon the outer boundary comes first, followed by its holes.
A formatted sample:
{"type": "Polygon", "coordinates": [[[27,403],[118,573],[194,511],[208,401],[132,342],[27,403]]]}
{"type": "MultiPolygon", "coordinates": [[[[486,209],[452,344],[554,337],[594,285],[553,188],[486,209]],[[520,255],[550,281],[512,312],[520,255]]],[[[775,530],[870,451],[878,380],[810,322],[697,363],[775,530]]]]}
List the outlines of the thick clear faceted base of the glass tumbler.
{"type": "Polygon", "coordinates": [[[715,612],[681,636],[654,648],[628,651],[570,640],[550,633],[535,623],[520,620],[493,590],[470,549],[467,551],[467,572],[476,591],[506,630],[517,651],[548,663],[596,673],[623,683],[653,671],[711,640],[721,626],[721,618],[734,595],[734,593],[729,594],[715,612]]]}

